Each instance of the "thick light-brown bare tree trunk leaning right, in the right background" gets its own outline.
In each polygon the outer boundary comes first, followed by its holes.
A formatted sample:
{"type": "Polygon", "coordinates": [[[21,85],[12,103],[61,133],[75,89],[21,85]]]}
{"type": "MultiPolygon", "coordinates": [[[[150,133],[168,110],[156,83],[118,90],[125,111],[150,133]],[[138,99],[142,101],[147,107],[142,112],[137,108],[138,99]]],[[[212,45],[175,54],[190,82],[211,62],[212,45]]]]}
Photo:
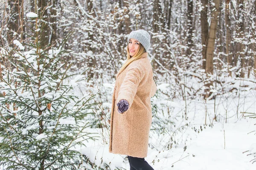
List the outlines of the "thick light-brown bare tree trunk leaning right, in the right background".
{"type": "Polygon", "coordinates": [[[208,74],[213,74],[213,53],[215,48],[215,37],[216,30],[218,26],[218,12],[220,6],[220,0],[213,0],[215,6],[212,11],[212,20],[209,30],[209,39],[207,42],[207,50],[206,50],[206,69],[205,72],[208,74]]]}

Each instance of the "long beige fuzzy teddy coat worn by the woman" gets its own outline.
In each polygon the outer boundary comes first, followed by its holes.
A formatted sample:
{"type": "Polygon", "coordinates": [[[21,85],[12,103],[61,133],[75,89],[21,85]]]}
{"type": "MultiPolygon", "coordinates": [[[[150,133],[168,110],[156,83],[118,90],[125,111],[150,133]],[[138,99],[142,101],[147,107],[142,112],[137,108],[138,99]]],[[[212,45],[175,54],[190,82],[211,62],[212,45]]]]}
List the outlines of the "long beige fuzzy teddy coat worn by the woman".
{"type": "Polygon", "coordinates": [[[140,59],[131,62],[116,75],[112,97],[109,152],[138,158],[148,153],[149,130],[152,122],[150,98],[157,86],[153,71],[144,53],[140,59]],[[117,112],[117,103],[125,99],[129,108],[117,112]]]}

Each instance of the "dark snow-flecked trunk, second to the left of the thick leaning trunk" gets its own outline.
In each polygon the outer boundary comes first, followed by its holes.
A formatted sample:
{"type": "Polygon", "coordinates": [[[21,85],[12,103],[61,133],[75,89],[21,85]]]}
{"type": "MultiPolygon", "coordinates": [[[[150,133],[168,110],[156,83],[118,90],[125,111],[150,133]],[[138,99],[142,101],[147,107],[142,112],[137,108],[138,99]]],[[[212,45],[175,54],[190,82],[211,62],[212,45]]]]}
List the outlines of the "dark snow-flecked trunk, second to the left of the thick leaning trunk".
{"type": "Polygon", "coordinates": [[[186,56],[190,57],[190,60],[192,59],[191,56],[191,49],[193,48],[193,41],[192,41],[192,34],[193,34],[193,0],[187,0],[187,18],[188,18],[188,24],[187,24],[187,50],[186,50],[186,56]]]}

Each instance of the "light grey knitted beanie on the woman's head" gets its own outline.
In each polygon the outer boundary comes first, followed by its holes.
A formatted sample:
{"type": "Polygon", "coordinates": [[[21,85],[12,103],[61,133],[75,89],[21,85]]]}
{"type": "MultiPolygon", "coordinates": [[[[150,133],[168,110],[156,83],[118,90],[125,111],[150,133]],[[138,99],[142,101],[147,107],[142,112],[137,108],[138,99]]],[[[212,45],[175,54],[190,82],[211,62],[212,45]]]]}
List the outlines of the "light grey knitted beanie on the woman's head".
{"type": "Polygon", "coordinates": [[[128,36],[128,43],[131,38],[138,40],[143,45],[146,52],[148,52],[150,48],[150,35],[148,34],[147,31],[143,29],[139,29],[137,31],[131,31],[131,33],[128,36]]]}

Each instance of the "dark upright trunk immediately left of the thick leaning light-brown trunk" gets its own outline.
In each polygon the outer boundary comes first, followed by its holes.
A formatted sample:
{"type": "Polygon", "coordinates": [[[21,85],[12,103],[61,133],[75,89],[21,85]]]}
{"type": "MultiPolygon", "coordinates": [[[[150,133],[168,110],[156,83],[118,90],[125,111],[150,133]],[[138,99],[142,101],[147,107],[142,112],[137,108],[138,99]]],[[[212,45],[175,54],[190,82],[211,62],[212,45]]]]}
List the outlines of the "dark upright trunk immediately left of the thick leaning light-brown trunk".
{"type": "Polygon", "coordinates": [[[208,24],[208,0],[201,0],[202,6],[204,7],[201,10],[201,39],[202,39],[202,56],[203,56],[203,69],[206,69],[206,45],[208,41],[208,32],[209,32],[209,24],[208,24]]]}

